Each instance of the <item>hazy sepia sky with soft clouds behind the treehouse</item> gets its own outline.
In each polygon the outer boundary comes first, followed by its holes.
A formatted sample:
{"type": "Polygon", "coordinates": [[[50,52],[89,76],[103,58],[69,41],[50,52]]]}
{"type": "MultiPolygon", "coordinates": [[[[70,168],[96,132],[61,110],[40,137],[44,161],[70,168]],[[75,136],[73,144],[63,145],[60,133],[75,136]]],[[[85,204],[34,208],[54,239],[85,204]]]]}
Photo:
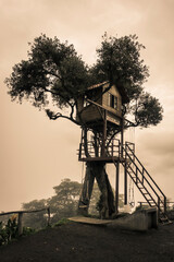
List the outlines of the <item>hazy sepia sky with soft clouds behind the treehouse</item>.
{"type": "Polygon", "coordinates": [[[29,103],[11,103],[3,83],[12,67],[27,58],[27,43],[41,33],[74,44],[88,64],[96,61],[104,32],[138,35],[150,71],[145,87],[160,99],[164,119],[158,127],[129,133],[129,139],[135,136],[137,155],[174,200],[173,13],[173,0],[0,0],[0,211],[51,196],[61,179],[82,179],[79,128],[66,120],[50,121],[29,103]]]}

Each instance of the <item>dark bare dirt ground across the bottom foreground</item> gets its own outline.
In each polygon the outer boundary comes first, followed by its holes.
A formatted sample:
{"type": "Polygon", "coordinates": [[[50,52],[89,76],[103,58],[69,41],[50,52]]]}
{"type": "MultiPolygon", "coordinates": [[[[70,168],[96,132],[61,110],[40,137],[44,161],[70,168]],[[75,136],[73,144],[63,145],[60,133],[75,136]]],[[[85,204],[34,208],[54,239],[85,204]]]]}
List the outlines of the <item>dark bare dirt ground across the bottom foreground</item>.
{"type": "Polygon", "coordinates": [[[69,223],[0,248],[0,262],[174,261],[174,224],[147,233],[69,223]]]}

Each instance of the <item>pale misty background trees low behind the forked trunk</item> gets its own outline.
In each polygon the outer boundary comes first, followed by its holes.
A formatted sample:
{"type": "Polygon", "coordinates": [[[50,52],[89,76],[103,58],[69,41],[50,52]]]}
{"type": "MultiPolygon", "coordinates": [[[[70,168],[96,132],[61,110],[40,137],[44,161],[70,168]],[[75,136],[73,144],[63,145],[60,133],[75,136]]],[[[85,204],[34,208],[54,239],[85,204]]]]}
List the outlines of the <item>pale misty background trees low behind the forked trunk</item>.
{"type": "MultiPolygon", "coordinates": [[[[54,194],[45,200],[33,200],[28,203],[23,203],[22,209],[27,211],[41,210],[50,206],[51,223],[57,223],[59,219],[77,215],[77,205],[82,191],[82,184],[77,181],[72,181],[65,178],[59,186],[53,187],[54,194]]],[[[97,183],[94,184],[92,198],[90,201],[90,214],[99,215],[97,211],[97,202],[100,199],[100,191],[97,183]]],[[[122,195],[120,195],[120,206],[122,206],[122,195]]],[[[24,214],[25,227],[42,228],[47,225],[46,212],[24,214]]]]}

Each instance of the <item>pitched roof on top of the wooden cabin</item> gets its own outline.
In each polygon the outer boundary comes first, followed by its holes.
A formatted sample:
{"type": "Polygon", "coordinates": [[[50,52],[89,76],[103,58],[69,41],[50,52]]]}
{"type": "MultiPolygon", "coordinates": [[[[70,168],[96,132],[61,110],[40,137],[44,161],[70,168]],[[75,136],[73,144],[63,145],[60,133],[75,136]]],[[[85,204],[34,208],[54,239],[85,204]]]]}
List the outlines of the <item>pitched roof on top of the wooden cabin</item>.
{"type": "MultiPolygon", "coordinates": [[[[104,86],[107,88],[107,87],[109,87],[109,84],[110,84],[109,81],[104,81],[102,83],[91,85],[87,90],[90,91],[90,90],[95,90],[95,88],[101,88],[102,86],[104,86]]],[[[123,104],[128,103],[129,98],[128,98],[128,96],[126,94],[126,91],[125,91],[124,86],[121,85],[121,84],[115,84],[115,88],[117,88],[117,91],[120,92],[120,94],[122,96],[122,103],[123,104]]]]}

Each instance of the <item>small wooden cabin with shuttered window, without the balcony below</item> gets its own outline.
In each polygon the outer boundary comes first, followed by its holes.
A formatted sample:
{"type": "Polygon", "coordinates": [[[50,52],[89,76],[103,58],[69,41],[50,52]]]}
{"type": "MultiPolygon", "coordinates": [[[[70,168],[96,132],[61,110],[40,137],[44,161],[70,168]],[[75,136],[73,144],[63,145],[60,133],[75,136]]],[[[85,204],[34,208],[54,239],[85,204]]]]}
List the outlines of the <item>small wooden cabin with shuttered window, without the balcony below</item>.
{"type": "Polygon", "coordinates": [[[103,121],[107,121],[108,128],[119,129],[125,103],[128,103],[128,97],[123,86],[110,86],[109,82],[96,84],[78,98],[76,119],[97,131],[102,130],[103,121]]]}

